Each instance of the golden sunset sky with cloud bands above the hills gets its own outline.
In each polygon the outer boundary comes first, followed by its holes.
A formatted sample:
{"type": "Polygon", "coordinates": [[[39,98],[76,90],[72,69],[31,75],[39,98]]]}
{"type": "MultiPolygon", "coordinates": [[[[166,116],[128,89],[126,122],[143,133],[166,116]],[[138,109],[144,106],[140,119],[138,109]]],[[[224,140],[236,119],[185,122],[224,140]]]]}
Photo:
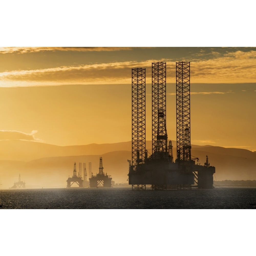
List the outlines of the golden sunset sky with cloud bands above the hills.
{"type": "Polygon", "coordinates": [[[256,150],[253,47],[1,47],[0,139],[55,145],[131,140],[131,69],[166,62],[166,125],[176,140],[176,62],[190,61],[191,144],[256,150]]]}

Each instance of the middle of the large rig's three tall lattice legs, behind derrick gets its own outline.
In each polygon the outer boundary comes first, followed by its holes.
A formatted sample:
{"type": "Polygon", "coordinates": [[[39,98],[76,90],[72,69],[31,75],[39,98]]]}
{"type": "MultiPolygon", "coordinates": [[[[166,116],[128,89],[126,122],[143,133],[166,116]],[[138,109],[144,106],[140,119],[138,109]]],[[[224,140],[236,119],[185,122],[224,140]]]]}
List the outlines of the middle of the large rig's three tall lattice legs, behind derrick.
{"type": "Polygon", "coordinates": [[[152,63],[152,158],[166,159],[166,62],[152,63]]]}

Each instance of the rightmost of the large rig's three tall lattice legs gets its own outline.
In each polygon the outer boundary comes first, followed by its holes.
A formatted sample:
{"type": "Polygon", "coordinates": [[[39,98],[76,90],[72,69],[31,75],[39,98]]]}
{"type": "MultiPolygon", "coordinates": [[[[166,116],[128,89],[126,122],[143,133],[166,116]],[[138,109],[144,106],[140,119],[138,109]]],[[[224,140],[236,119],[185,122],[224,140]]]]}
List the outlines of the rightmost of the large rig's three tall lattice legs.
{"type": "Polygon", "coordinates": [[[177,160],[191,160],[190,62],[176,62],[177,160]]]}

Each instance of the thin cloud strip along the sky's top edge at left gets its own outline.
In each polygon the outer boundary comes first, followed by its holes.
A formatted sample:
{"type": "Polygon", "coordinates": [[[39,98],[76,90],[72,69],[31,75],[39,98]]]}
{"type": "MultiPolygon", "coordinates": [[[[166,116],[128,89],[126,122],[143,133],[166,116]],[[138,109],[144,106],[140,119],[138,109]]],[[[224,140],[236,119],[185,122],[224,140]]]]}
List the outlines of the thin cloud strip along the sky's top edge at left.
{"type": "Polygon", "coordinates": [[[0,47],[0,53],[29,53],[40,51],[121,51],[132,47],[0,47]]]}

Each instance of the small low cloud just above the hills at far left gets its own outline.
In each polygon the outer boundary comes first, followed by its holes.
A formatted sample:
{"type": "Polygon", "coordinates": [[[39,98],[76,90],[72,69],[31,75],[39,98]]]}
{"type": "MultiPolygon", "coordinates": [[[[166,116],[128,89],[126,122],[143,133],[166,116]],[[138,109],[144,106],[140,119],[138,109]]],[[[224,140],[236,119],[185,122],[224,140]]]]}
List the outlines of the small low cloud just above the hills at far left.
{"type": "Polygon", "coordinates": [[[42,142],[42,140],[35,138],[36,130],[31,133],[19,132],[19,131],[0,131],[0,140],[26,140],[26,141],[37,141],[42,142]]]}

